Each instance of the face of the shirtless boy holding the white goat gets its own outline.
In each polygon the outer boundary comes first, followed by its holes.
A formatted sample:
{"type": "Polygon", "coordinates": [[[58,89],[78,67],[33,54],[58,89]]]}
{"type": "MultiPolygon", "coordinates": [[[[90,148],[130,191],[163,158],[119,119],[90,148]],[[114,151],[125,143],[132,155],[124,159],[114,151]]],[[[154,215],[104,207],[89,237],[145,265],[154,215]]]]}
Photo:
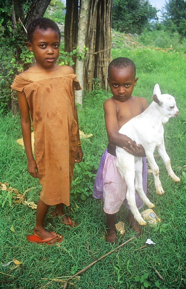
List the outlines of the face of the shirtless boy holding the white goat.
{"type": "Polygon", "coordinates": [[[130,67],[113,67],[110,71],[110,77],[107,77],[107,81],[113,94],[112,98],[122,102],[129,99],[137,80],[138,77],[134,78],[134,73],[130,67]]]}

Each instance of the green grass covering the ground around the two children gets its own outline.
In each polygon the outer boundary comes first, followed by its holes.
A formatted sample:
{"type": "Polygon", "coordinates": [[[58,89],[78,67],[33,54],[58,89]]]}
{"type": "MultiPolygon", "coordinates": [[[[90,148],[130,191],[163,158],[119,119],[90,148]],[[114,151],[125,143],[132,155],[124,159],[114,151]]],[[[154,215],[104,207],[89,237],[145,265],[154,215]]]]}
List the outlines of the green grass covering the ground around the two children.
{"type": "MultiPolygon", "coordinates": [[[[184,289],[186,288],[185,59],[183,55],[173,51],[166,53],[148,48],[118,48],[112,50],[112,55],[113,58],[124,56],[134,60],[139,80],[133,95],[147,98],[150,104],[153,87],[158,83],[162,93],[169,93],[175,97],[180,115],[171,118],[164,126],[164,136],[172,168],[176,175],[181,177],[181,183],[174,184],[168,179],[162,160],[157,157],[160,179],[166,194],[162,197],[155,194],[152,175],[148,175],[147,194],[162,220],[158,229],[154,231],[154,227],[147,225],[140,238],[134,238],[124,247],[81,273],[79,278],[72,279],[67,288],[184,289]],[[151,238],[156,245],[143,247],[147,238],[151,238]],[[165,281],[158,276],[157,271],[165,281]]],[[[8,199],[2,208],[6,198],[5,196],[0,198],[1,264],[6,264],[13,258],[22,263],[0,266],[0,288],[63,288],[62,280],[67,279],[65,276],[72,276],[134,235],[126,223],[126,208],[123,205],[117,213],[116,222],[124,221],[126,232],[123,236],[117,235],[117,244],[106,243],[103,202],[88,197],[92,193],[101,154],[107,145],[103,101],[108,97],[110,94],[102,90],[86,93],[83,109],[79,111],[80,129],[85,134],[92,133],[93,137],[82,140],[84,160],[81,164],[75,164],[71,205],[66,208],[66,213],[77,221],[78,226],[73,229],[65,227],[49,213],[45,220],[48,230],[64,236],[61,243],[48,246],[27,242],[26,235],[32,232],[35,224],[35,210],[20,203],[10,205],[8,199]],[[14,278],[15,280],[11,281],[14,278]]],[[[8,181],[10,186],[22,193],[33,188],[26,192],[26,200],[37,203],[41,186],[39,181],[33,179],[26,171],[25,153],[15,142],[21,137],[19,116],[12,114],[1,116],[0,127],[0,181],[2,183],[8,181]]],[[[145,209],[147,208],[144,207],[142,210],[145,209]]],[[[50,208],[50,211],[52,210],[53,208],[50,208]]]]}

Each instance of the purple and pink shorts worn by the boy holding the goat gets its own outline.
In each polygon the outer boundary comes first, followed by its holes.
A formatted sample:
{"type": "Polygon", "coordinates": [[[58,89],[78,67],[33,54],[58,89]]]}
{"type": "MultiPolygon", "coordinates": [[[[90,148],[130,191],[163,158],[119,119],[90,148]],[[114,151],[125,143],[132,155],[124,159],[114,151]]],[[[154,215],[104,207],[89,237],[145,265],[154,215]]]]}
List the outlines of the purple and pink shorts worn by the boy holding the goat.
{"type": "MultiPolygon", "coordinates": [[[[147,193],[147,164],[146,158],[143,160],[143,190],[147,193]]],[[[98,172],[94,183],[93,197],[104,200],[104,211],[107,214],[115,214],[119,211],[123,201],[125,200],[126,207],[130,209],[126,200],[127,186],[122,179],[117,167],[116,157],[107,152],[103,153],[98,172]]],[[[141,209],[144,205],[137,192],[135,192],[136,206],[141,209]]]]}

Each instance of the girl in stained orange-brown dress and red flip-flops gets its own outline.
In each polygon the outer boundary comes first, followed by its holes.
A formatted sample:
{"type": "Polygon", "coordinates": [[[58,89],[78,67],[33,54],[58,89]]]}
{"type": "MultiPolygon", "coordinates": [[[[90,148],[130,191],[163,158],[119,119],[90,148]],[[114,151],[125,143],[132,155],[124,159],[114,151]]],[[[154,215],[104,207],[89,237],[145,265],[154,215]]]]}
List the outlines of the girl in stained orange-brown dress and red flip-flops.
{"type": "Polygon", "coordinates": [[[79,138],[74,88],[81,89],[69,66],[55,64],[59,55],[60,31],[54,21],[37,18],[28,28],[26,47],[33,51],[36,63],[14,79],[28,171],[39,177],[42,186],[37,203],[36,224],[27,240],[52,244],[62,240],[61,234],[44,228],[49,205],[56,205],[52,216],[60,216],[70,227],[77,223],[63,213],[69,206],[69,190],[75,162],[83,152],[79,138]],[[34,154],[31,147],[31,119],[35,134],[34,154]]]}

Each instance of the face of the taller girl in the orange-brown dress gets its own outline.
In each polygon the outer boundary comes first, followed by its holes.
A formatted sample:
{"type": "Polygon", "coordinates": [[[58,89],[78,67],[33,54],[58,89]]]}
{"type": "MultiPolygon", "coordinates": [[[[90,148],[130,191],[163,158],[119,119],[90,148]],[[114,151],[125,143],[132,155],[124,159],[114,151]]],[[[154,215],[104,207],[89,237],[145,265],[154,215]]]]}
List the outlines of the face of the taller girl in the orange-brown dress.
{"type": "Polygon", "coordinates": [[[52,29],[35,31],[33,42],[26,42],[29,51],[33,51],[36,64],[43,68],[52,68],[59,56],[59,36],[52,29]]]}

